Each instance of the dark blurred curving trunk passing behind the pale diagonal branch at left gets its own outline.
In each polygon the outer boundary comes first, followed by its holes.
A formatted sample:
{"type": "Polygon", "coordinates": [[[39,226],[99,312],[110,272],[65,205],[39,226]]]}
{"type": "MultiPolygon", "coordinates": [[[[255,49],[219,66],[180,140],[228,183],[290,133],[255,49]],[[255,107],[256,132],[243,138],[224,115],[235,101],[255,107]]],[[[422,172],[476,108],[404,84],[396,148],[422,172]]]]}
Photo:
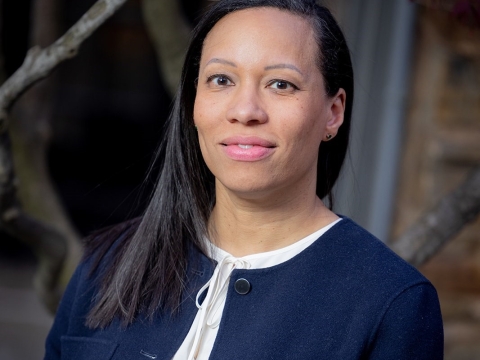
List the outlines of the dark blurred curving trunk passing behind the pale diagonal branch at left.
{"type": "MultiPolygon", "coordinates": [[[[46,47],[60,37],[60,1],[32,1],[32,46],[46,47]]],[[[22,211],[18,218],[4,225],[5,231],[27,243],[35,253],[38,265],[34,288],[52,312],[82,254],[80,235],[66,214],[48,171],[47,149],[53,115],[50,100],[56,85],[56,76],[39,81],[19,97],[9,114],[11,154],[18,179],[16,196],[22,211]]]]}

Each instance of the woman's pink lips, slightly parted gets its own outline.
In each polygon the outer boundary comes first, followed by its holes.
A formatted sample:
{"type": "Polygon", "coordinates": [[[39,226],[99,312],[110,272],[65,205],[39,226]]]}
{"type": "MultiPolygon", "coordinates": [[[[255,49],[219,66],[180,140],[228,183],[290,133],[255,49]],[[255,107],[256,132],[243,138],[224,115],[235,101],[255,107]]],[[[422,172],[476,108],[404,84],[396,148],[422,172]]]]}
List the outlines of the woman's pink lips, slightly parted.
{"type": "Polygon", "coordinates": [[[259,161],[273,154],[276,145],[257,136],[234,136],[220,143],[224,153],[236,161],[259,161]]]}

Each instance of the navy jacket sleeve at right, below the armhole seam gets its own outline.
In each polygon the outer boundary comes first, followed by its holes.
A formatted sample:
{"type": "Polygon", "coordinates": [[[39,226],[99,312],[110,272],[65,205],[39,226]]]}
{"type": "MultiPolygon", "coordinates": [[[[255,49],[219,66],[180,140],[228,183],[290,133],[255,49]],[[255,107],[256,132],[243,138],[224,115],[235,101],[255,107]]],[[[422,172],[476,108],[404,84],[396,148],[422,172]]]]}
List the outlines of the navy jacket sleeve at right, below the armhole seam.
{"type": "Polygon", "coordinates": [[[368,359],[443,359],[442,315],[431,284],[409,287],[392,301],[378,326],[368,359]]]}

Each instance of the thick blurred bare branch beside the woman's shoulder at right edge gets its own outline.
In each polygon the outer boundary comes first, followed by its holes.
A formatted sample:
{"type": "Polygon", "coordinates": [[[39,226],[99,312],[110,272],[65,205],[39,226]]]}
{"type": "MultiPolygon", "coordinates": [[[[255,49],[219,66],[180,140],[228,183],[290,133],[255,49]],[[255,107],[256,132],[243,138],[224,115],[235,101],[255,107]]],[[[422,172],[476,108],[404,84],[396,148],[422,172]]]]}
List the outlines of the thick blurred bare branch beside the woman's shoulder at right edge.
{"type": "Polygon", "coordinates": [[[417,223],[395,240],[392,249],[414,266],[437,253],[480,214],[480,166],[417,223]]]}

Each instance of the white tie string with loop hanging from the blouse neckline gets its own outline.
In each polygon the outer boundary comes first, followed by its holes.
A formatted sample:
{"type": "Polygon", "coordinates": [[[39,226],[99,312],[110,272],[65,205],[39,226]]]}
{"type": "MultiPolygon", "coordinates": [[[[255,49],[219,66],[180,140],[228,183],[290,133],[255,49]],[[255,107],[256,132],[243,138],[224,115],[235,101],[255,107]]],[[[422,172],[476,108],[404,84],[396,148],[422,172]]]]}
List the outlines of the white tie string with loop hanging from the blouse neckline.
{"type": "Polygon", "coordinates": [[[233,256],[226,256],[217,264],[210,280],[208,280],[208,282],[198,291],[196,303],[200,312],[200,319],[187,360],[195,360],[197,357],[205,326],[213,329],[220,324],[224,299],[227,296],[228,283],[232,271],[234,269],[248,268],[250,268],[250,263],[248,261],[236,259],[233,256]],[[198,299],[207,289],[208,291],[207,295],[205,296],[205,300],[203,300],[202,304],[200,305],[198,299]]]}

